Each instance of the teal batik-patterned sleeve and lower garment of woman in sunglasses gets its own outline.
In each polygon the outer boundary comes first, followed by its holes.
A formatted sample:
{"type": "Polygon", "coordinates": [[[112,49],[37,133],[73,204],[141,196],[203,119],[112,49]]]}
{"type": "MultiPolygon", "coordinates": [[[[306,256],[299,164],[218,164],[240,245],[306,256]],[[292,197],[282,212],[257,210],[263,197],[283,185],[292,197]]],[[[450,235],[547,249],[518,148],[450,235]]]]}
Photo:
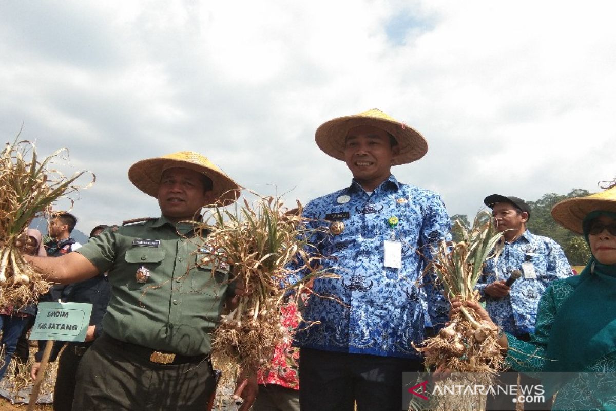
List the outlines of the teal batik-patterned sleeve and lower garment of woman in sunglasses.
{"type": "MultiPolygon", "coordinates": [[[[547,348],[552,324],[574,288],[563,280],[554,281],[541,298],[535,333],[529,342],[507,334],[507,365],[519,372],[544,372],[549,361],[547,348]]],[[[571,325],[575,338],[575,324],[571,325]]],[[[580,348],[583,349],[583,348],[580,348]]],[[[532,374],[531,374],[532,375],[532,374]]],[[[553,410],[616,410],[616,352],[588,364],[559,389],[553,410]]]]}

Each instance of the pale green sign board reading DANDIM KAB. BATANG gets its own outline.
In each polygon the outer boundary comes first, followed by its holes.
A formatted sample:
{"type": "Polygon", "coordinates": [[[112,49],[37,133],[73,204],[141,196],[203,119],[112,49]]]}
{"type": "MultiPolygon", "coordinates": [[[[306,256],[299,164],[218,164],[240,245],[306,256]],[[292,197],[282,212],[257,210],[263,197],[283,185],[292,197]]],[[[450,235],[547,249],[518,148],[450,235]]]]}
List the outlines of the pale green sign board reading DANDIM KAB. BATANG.
{"type": "Polygon", "coordinates": [[[30,340],[86,340],[92,304],[40,303],[30,340]]]}

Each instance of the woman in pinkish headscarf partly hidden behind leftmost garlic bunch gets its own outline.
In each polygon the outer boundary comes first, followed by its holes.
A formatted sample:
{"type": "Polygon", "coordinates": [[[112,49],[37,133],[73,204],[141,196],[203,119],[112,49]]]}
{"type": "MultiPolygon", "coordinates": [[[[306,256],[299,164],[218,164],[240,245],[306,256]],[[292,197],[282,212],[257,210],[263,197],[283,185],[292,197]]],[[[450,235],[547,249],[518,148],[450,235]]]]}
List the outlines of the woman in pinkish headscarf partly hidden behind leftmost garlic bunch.
{"type": "MultiPolygon", "coordinates": [[[[45,247],[43,245],[43,235],[39,230],[27,229],[22,235],[22,253],[29,255],[46,256],[45,247]]],[[[30,319],[33,318],[36,306],[29,304],[23,309],[13,310],[12,306],[5,306],[0,309],[0,329],[2,330],[1,344],[4,344],[4,364],[0,367],[0,379],[9,368],[10,359],[12,358],[17,341],[22,335],[23,329],[26,327],[30,319]]],[[[27,357],[26,357],[27,359],[27,357]]]]}

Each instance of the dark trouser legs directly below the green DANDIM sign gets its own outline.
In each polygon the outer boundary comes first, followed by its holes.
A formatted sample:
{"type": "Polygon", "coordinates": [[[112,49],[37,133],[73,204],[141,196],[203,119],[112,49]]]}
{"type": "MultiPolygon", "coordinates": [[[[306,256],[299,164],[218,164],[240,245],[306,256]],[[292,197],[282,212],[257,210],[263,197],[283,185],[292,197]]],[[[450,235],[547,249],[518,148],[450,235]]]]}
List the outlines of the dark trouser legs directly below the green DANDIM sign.
{"type": "Polygon", "coordinates": [[[64,348],[58,362],[58,375],[54,386],[54,411],[71,411],[77,384],[77,367],[87,347],[71,344],[64,348]]]}

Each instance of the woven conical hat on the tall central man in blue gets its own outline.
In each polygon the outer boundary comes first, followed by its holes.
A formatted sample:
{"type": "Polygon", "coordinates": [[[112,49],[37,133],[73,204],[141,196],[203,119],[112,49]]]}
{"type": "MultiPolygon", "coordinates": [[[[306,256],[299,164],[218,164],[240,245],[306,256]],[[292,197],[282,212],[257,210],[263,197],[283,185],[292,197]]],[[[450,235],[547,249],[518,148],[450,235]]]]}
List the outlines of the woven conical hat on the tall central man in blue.
{"type": "Polygon", "coordinates": [[[419,160],[428,152],[428,142],[419,132],[386,115],[378,108],[326,121],[319,126],[314,139],[318,148],[323,152],[344,161],[344,145],[347,133],[349,129],[357,126],[377,127],[394,136],[400,147],[400,154],[392,161],[394,166],[419,160]]]}

